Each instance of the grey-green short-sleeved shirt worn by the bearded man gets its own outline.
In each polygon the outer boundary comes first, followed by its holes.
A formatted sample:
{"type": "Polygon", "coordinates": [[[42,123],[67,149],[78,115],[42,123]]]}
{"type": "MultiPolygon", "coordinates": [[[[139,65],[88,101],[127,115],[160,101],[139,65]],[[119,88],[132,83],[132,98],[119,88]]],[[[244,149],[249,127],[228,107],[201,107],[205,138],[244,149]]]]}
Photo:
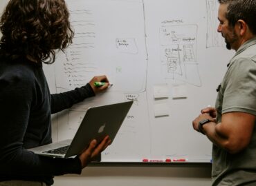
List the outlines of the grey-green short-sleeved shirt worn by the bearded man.
{"type": "MultiPolygon", "coordinates": [[[[215,107],[221,114],[246,112],[256,116],[256,37],[246,41],[230,60],[215,107]]],[[[229,154],[212,147],[212,185],[256,185],[256,127],[242,152],[229,154]]]]}

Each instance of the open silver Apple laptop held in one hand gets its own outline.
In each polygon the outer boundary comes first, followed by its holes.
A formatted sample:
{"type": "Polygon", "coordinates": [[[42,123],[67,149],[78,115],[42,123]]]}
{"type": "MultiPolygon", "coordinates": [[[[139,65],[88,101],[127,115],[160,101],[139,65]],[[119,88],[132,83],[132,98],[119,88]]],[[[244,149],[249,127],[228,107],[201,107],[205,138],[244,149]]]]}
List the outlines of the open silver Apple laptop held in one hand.
{"type": "Polygon", "coordinates": [[[109,135],[113,142],[132,103],[133,101],[127,101],[90,107],[84,115],[73,140],[59,141],[28,150],[44,156],[68,158],[81,154],[93,139],[100,143],[105,136],[109,135]]]}

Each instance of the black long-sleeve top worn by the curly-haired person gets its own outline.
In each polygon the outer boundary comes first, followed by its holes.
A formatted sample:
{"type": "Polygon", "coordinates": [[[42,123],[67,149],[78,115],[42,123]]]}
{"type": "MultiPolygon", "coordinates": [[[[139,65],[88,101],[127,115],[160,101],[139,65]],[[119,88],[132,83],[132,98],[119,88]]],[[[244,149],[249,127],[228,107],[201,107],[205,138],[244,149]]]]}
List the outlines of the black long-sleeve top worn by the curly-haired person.
{"type": "Polygon", "coordinates": [[[38,156],[26,149],[51,143],[51,114],[89,96],[94,96],[89,84],[50,94],[42,65],[0,59],[0,181],[52,185],[53,176],[80,174],[79,158],[38,156]]]}

